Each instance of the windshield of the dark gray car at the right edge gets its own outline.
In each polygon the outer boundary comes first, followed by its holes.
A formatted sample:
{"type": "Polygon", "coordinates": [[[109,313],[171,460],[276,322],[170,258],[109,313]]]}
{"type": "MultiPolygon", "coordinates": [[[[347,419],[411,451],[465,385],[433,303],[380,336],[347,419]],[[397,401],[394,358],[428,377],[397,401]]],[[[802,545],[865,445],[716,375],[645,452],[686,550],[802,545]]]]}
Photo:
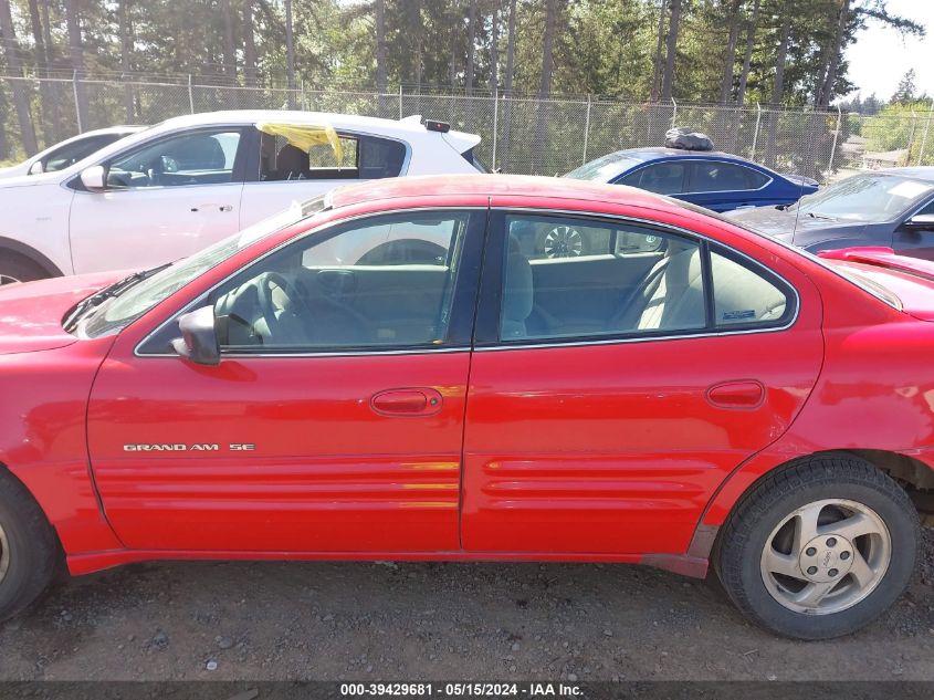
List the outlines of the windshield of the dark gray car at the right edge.
{"type": "MultiPolygon", "coordinates": [[[[934,192],[934,182],[865,173],[819,189],[797,205],[800,213],[853,221],[889,221],[934,192]]],[[[794,211],[795,207],[789,207],[794,211]]]]}

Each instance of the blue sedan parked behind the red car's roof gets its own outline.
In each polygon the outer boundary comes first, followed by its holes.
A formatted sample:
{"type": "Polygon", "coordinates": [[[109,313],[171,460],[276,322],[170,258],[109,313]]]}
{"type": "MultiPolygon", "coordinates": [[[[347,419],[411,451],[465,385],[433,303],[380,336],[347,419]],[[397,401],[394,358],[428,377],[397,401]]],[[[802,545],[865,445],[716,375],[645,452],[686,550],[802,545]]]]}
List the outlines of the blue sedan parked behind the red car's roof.
{"type": "Polygon", "coordinates": [[[816,180],[779,175],[739,156],[679,148],[617,150],[565,177],[629,185],[714,211],[788,206],[818,188],[816,180]]]}

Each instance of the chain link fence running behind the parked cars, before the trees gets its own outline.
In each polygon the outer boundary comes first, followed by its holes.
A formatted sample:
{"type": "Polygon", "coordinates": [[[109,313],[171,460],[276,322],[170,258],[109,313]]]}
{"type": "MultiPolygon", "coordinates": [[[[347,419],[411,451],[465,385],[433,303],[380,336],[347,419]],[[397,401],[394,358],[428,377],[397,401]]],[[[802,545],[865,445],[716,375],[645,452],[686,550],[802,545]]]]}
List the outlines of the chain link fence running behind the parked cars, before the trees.
{"type": "Polygon", "coordinates": [[[25,94],[40,148],[114,124],[155,124],[216,109],[296,108],[386,118],[412,114],[479,134],[479,157],[504,173],[556,175],[620,148],[661,146],[673,125],[717,148],[821,182],[853,170],[934,165],[934,112],[861,116],[838,111],[636,104],[590,97],[538,100],[502,93],[368,92],[206,85],[188,81],[0,77],[0,160],[27,154],[13,109],[25,94]],[[78,105],[86,102],[87,107],[78,105]]]}

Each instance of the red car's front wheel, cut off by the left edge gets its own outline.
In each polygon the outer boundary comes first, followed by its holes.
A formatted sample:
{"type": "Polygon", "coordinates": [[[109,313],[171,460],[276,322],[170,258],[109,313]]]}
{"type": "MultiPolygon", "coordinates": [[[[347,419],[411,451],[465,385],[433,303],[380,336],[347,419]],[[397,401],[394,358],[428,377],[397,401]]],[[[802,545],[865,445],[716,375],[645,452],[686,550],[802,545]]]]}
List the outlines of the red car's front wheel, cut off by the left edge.
{"type": "Polygon", "coordinates": [[[59,547],[25,488],[0,473],[0,623],[25,609],[55,574],[59,547]],[[6,571],[3,571],[6,568],[6,571]]]}

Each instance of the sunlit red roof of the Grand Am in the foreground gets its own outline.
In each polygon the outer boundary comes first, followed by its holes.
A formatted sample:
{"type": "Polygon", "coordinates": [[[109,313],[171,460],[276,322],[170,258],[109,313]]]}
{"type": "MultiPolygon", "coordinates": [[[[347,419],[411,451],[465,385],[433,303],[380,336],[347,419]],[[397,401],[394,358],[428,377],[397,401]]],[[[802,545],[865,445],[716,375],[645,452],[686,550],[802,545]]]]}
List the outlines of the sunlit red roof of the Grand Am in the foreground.
{"type": "Polygon", "coordinates": [[[647,190],[590,180],[534,175],[426,175],[370,180],[332,190],[328,203],[335,209],[361,202],[418,197],[537,197],[577,199],[612,205],[678,209],[679,203],[647,190]]]}

